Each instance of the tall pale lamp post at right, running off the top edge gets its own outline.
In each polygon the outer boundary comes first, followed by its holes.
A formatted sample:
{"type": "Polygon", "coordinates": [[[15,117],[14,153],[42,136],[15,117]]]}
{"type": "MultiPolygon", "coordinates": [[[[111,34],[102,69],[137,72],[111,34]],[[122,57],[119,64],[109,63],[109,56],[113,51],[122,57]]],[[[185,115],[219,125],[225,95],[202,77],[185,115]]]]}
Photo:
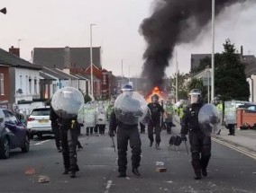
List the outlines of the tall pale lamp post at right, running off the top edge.
{"type": "Polygon", "coordinates": [[[215,0],[212,0],[212,92],[211,101],[215,98],[215,0]]]}

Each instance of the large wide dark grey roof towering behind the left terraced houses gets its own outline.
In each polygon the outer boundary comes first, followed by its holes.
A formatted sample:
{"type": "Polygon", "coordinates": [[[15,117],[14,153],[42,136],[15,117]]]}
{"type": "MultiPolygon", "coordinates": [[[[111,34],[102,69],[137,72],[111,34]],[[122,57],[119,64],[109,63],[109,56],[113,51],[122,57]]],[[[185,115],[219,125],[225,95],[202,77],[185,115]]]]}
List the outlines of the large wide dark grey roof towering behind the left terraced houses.
{"type": "MultiPolygon", "coordinates": [[[[101,67],[101,47],[94,47],[93,64],[101,67]]],[[[90,48],[33,48],[33,63],[48,68],[84,68],[90,66],[90,48]]]]}

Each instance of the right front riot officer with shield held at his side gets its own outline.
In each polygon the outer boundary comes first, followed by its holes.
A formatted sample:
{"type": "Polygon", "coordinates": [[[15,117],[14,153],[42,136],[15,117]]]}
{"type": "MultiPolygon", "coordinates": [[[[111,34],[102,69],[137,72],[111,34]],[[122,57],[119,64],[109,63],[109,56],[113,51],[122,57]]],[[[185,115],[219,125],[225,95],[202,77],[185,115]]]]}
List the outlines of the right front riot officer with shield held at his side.
{"type": "Polygon", "coordinates": [[[181,126],[181,138],[187,140],[191,146],[192,166],[195,171],[195,180],[201,179],[201,175],[207,176],[207,165],[211,157],[211,136],[206,136],[199,127],[198,113],[203,107],[201,91],[193,89],[189,92],[190,104],[184,110],[181,126]]]}

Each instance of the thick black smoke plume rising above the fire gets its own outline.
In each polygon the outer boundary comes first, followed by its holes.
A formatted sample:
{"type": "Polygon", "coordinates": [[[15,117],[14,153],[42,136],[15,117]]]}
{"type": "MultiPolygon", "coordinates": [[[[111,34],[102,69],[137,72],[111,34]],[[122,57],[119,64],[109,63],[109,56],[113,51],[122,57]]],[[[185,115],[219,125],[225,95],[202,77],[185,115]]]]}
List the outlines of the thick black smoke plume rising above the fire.
{"type": "MultiPolygon", "coordinates": [[[[246,0],[215,0],[215,15],[225,7],[246,0]]],[[[250,1],[250,0],[248,0],[250,1]]],[[[255,1],[255,0],[251,0],[255,1]]],[[[143,55],[142,77],[149,81],[146,90],[162,86],[165,69],[176,45],[189,43],[212,19],[212,0],[156,0],[150,18],[141,25],[148,47],[143,55]]]]}

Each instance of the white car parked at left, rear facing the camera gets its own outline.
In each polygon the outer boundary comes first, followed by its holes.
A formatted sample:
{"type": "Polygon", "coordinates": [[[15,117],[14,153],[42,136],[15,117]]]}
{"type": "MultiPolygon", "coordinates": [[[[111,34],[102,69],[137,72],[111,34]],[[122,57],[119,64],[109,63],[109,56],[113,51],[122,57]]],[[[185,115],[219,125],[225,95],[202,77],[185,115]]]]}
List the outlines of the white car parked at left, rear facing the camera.
{"type": "Polygon", "coordinates": [[[30,130],[31,139],[34,135],[41,138],[44,134],[53,134],[50,125],[50,106],[32,110],[32,114],[27,119],[27,127],[30,130]]]}

